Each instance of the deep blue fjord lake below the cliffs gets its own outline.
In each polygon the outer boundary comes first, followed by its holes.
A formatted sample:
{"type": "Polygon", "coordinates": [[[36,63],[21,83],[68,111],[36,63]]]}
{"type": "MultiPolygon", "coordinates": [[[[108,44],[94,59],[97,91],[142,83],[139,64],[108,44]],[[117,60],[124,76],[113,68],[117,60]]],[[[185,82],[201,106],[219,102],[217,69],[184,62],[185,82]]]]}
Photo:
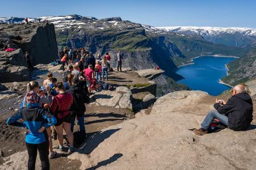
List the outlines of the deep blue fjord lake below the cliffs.
{"type": "Polygon", "coordinates": [[[219,83],[220,79],[227,75],[225,65],[236,58],[201,56],[194,58],[194,64],[181,66],[176,73],[184,79],[177,81],[191,88],[201,90],[217,96],[223,91],[230,89],[229,86],[219,83]]]}

